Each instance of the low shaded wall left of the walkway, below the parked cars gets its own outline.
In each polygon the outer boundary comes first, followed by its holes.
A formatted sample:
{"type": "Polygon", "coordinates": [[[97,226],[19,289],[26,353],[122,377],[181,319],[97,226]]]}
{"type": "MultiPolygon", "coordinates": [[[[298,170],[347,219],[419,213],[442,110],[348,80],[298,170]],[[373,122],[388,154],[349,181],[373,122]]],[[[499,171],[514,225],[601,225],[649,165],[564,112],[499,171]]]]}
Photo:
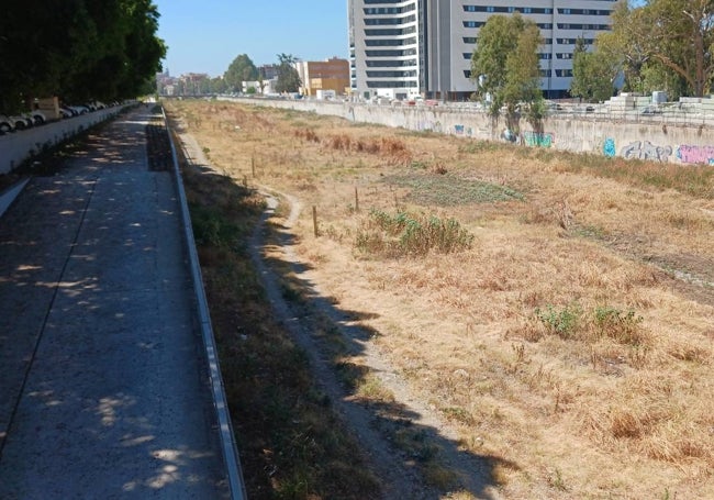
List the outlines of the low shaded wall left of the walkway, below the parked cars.
{"type": "Polygon", "coordinates": [[[92,111],[0,136],[0,174],[9,174],[33,155],[60,144],[119,114],[126,105],[92,111]]]}

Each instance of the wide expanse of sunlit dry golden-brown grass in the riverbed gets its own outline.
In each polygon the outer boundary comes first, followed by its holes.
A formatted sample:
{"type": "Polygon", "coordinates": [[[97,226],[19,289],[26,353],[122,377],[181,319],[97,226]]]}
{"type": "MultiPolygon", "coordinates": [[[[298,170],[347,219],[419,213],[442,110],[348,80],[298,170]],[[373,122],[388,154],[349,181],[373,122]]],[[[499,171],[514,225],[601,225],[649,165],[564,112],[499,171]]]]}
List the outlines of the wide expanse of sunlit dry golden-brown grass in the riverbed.
{"type": "Polygon", "coordinates": [[[309,210],[292,229],[303,278],[364,313],[462,447],[507,464],[495,497],[714,498],[711,167],[167,107],[220,173],[316,207],[319,237],[309,210]],[[380,256],[356,245],[373,210],[475,238],[380,256]]]}

